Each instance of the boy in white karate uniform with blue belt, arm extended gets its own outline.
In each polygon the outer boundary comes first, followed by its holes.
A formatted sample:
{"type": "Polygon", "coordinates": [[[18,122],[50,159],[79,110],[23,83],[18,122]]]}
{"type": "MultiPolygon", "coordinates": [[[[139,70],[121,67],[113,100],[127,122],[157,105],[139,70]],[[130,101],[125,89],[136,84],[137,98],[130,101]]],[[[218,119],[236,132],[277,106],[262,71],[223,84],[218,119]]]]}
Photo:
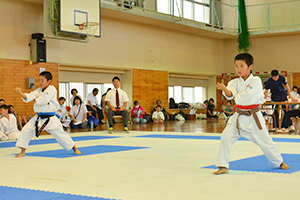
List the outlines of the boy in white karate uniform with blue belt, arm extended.
{"type": "Polygon", "coordinates": [[[49,132],[56,141],[67,151],[73,149],[75,154],[81,154],[81,152],[75,146],[74,141],[66,133],[59,119],[55,116],[55,112],[58,110],[59,104],[57,102],[56,88],[50,85],[52,82],[52,74],[47,71],[43,71],[39,75],[39,85],[35,91],[28,93],[22,93],[21,88],[16,88],[22,100],[26,103],[35,101],[33,109],[37,112],[33,118],[24,126],[21,135],[16,143],[16,146],[21,148],[21,152],[16,157],[25,156],[25,151],[28,147],[30,140],[45,129],[49,132]]]}

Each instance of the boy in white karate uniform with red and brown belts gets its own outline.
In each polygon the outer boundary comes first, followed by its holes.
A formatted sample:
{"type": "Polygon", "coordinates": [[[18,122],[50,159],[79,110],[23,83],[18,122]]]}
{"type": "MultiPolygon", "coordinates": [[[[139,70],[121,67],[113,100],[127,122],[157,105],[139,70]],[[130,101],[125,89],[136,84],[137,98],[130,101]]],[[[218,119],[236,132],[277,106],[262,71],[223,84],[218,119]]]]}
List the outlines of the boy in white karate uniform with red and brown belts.
{"type": "Polygon", "coordinates": [[[240,136],[257,144],[271,167],[288,169],[259,111],[260,104],[264,103],[264,96],[261,79],[252,75],[253,57],[248,53],[241,53],[234,60],[235,71],[240,78],[231,80],[227,87],[223,83],[217,83],[217,89],[222,90],[228,100],[235,99],[236,112],[229,118],[222,133],[216,162],[219,170],[214,174],[228,173],[230,150],[240,136]]]}

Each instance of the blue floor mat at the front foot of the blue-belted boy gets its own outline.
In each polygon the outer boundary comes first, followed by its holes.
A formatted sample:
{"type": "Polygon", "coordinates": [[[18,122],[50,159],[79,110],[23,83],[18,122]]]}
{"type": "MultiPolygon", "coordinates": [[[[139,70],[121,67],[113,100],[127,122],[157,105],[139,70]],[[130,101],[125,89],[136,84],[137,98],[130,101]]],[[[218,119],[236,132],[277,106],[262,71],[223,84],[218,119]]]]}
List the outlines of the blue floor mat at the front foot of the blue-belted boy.
{"type": "Polygon", "coordinates": [[[97,146],[88,146],[88,147],[78,147],[79,151],[81,152],[81,155],[75,155],[73,150],[65,151],[64,149],[57,149],[57,150],[50,150],[50,151],[30,152],[30,153],[26,153],[26,156],[69,158],[69,157],[101,154],[101,153],[130,151],[130,150],[145,149],[145,148],[148,147],[97,145],[97,146]]]}

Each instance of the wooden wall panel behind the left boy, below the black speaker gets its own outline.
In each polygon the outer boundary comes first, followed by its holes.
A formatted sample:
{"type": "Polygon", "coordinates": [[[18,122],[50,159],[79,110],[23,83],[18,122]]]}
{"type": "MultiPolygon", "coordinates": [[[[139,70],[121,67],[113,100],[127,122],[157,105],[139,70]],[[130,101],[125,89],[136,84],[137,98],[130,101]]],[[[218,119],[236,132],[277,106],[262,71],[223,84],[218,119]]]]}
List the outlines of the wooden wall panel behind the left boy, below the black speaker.
{"type": "Polygon", "coordinates": [[[29,61],[0,59],[0,98],[5,100],[5,104],[12,104],[17,113],[34,116],[33,102],[24,103],[19,95],[14,91],[15,87],[20,87],[23,92],[29,93],[39,87],[40,68],[50,71],[53,76],[52,85],[58,91],[58,64],[57,63],[37,63],[30,65],[29,61]],[[35,89],[27,89],[27,78],[35,79],[35,89]]]}

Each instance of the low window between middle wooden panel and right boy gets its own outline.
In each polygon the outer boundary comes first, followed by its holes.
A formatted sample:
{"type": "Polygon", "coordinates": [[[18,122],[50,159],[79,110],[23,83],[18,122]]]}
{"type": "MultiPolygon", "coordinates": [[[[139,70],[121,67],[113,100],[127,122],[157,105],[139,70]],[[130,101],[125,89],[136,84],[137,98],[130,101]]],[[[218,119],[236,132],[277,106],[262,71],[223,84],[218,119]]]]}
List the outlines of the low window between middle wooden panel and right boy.
{"type": "Polygon", "coordinates": [[[169,86],[169,99],[176,103],[203,103],[206,98],[204,87],[169,86]]]}

